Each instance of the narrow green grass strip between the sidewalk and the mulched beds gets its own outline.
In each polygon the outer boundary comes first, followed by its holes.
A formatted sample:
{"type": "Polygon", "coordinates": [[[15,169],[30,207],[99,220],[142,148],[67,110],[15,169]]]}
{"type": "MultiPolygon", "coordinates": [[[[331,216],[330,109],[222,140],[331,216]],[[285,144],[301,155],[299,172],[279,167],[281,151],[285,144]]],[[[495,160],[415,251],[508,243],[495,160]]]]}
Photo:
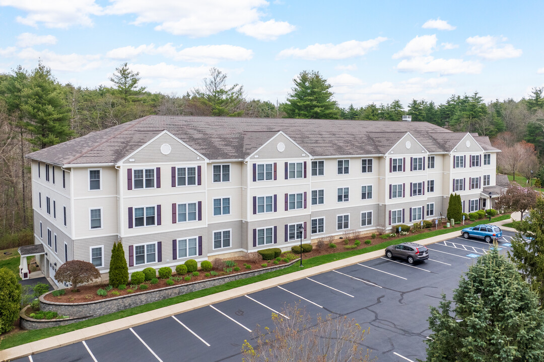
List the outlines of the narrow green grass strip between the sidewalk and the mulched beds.
{"type": "MultiPolygon", "coordinates": [[[[493,221],[501,221],[501,220],[507,220],[509,218],[510,218],[509,214],[508,215],[501,215],[501,216],[498,216],[496,218],[491,219],[491,221],[492,222],[493,221]]],[[[425,233],[421,233],[421,234],[412,235],[410,237],[403,238],[402,242],[403,243],[416,242],[417,240],[426,239],[426,238],[446,234],[446,233],[453,232],[453,231],[460,231],[464,227],[476,226],[476,225],[479,225],[479,224],[487,224],[487,223],[489,223],[488,219],[481,219],[479,221],[475,221],[474,223],[472,223],[470,225],[468,225],[468,224],[467,225],[461,225],[461,226],[457,226],[457,227],[450,227],[450,228],[447,228],[447,229],[442,228],[441,230],[435,230],[435,231],[431,231],[431,232],[425,232],[425,233]]],[[[391,239],[391,240],[386,240],[383,243],[378,244],[378,245],[365,247],[364,249],[359,249],[359,250],[354,249],[354,250],[350,250],[350,251],[344,251],[344,252],[339,252],[339,253],[331,253],[331,254],[316,256],[316,257],[313,257],[313,258],[310,258],[310,259],[305,259],[304,260],[304,267],[305,268],[312,268],[312,266],[321,265],[321,264],[325,264],[325,263],[330,263],[330,262],[333,262],[333,261],[336,261],[336,260],[345,259],[345,258],[349,258],[349,257],[356,256],[356,255],[361,255],[361,254],[368,253],[368,252],[375,251],[375,250],[385,249],[389,245],[397,244],[398,240],[399,239],[395,238],[395,239],[391,239]]],[[[18,258],[16,258],[16,259],[17,259],[17,265],[18,265],[18,258]]],[[[289,268],[270,271],[268,273],[257,275],[257,276],[254,276],[254,277],[249,277],[249,278],[245,278],[245,279],[242,279],[242,280],[228,282],[228,283],[225,283],[225,284],[222,284],[222,285],[218,285],[217,287],[198,290],[198,291],[194,291],[192,293],[179,295],[179,296],[172,297],[172,298],[169,298],[169,299],[164,299],[164,300],[144,304],[142,306],[121,310],[120,312],[115,312],[115,313],[112,313],[112,314],[103,315],[103,316],[92,318],[92,319],[89,319],[89,320],[86,320],[86,321],[73,323],[73,324],[67,325],[67,326],[51,327],[51,328],[44,328],[44,329],[35,329],[33,331],[22,331],[22,332],[19,332],[19,333],[10,334],[10,335],[5,336],[5,338],[0,341],[0,350],[4,350],[6,348],[15,347],[15,346],[19,346],[19,345],[29,343],[29,342],[32,342],[32,341],[48,338],[48,337],[51,337],[51,336],[54,336],[54,335],[59,335],[59,334],[63,334],[63,333],[66,333],[66,332],[76,331],[77,329],[82,329],[82,328],[85,328],[85,327],[95,326],[95,325],[98,325],[98,324],[101,324],[101,323],[104,323],[104,322],[109,322],[109,321],[121,319],[123,317],[128,317],[128,316],[131,316],[131,315],[148,312],[149,310],[154,310],[154,309],[158,309],[158,308],[162,308],[162,307],[171,306],[172,304],[177,304],[177,303],[197,299],[197,298],[200,298],[200,297],[203,297],[203,296],[219,293],[220,291],[230,290],[230,289],[237,288],[237,287],[242,287],[243,285],[248,285],[248,284],[251,284],[251,283],[260,282],[260,281],[267,280],[267,279],[270,279],[270,278],[274,278],[274,277],[277,277],[277,276],[280,276],[280,275],[290,274],[290,273],[298,271],[298,270],[300,270],[300,267],[299,267],[298,264],[295,263],[294,265],[289,266],[289,268]]]]}

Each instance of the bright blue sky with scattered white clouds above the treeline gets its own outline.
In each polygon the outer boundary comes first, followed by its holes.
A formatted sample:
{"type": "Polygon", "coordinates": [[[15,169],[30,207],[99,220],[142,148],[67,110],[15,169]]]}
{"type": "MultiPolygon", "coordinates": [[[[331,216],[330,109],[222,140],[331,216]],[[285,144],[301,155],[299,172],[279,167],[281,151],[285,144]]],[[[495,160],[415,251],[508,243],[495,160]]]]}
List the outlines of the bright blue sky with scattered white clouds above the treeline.
{"type": "Polygon", "coordinates": [[[343,107],[518,100],[544,85],[542,14],[541,1],[0,0],[0,73],[41,59],[92,88],[128,62],[149,91],[181,95],[217,67],[281,102],[315,70],[343,107]]]}

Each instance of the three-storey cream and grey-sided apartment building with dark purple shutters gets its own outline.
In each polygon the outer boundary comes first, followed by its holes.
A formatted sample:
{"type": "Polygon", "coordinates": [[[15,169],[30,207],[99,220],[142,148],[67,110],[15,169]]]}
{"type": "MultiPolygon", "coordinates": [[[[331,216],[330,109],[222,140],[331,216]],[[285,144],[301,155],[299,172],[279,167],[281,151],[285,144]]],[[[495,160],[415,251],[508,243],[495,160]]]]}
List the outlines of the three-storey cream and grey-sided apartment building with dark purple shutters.
{"type": "Polygon", "coordinates": [[[288,249],[435,219],[454,192],[471,212],[499,151],[424,122],[147,116],[27,155],[39,263],[107,273],[117,240],[129,272],[288,249]]]}

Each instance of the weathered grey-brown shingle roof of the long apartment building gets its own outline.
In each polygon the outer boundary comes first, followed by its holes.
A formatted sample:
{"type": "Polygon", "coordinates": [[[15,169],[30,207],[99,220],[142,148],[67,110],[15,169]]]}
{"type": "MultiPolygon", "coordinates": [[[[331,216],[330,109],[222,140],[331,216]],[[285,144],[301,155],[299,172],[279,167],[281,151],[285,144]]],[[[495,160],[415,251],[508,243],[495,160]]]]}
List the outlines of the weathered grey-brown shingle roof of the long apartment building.
{"type": "MultiPolygon", "coordinates": [[[[280,130],[312,156],[320,157],[385,154],[408,131],[431,153],[449,152],[466,135],[425,122],[152,115],[27,157],[54,164],[116,163],[163,130],[210,160],[246,158],[280,130]]],[[[480,144],[493,149],[487,146],[487,137],[478,138],[480,144]]]]}

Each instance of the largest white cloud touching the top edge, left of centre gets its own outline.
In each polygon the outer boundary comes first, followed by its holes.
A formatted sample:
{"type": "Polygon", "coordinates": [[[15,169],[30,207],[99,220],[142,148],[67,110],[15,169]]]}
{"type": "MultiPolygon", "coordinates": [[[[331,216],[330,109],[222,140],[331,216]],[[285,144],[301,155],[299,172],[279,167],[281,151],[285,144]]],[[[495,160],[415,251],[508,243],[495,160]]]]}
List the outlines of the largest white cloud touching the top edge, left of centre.
{"type": "Polygon", "coordinates": [[[112,0],[106,12],[134,14],[133,24],[157,23],[155,30],[200,37],[254,23],[263,15],[259,9],[267,5],[265,0],[163,0],[160,4],[149,0],[112,0]]]}

